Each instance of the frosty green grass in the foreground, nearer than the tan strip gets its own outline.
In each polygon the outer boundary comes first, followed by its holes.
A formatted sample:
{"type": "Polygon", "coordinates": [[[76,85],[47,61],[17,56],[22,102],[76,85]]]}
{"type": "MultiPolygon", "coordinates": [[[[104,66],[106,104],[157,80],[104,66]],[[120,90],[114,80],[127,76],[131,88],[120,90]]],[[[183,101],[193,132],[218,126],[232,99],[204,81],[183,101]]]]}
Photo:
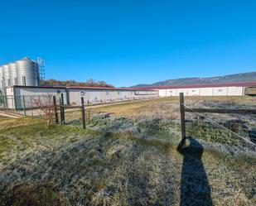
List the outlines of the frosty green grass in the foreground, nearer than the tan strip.
{"type": "Polygon", "coordinates": [[[190,185],[186,201],[194,205],[206,194],[214,205],[256,203],[255,158],[199,141],[200,162],[190,156],[184,167],[184,155],[176,151],[178,130],[175,120],[126,117],[97,117],[85,132],[70,126],[47,132],[41,122],[1,129],[0,141],[13,141],[0,153],[0,203],[13,205],[14,196],[22,203],[29,193],[38,203],[32,205],[47,205],[38,200],[43,198],[50,205],[179,205],[182,188],[190,185]],[[202,174],[196,164],[203,165],[210,190],[195,186],[200,179],[191,176],[202,174]]]}

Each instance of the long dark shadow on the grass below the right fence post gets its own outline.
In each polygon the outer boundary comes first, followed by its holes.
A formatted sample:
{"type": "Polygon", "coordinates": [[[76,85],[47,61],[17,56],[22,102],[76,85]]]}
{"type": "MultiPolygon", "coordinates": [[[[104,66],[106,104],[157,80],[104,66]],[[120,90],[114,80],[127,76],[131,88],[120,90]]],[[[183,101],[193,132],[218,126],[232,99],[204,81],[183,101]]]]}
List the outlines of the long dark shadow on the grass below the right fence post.
{"type": "Polygon", "coordinates": [[[191,137],[186,137],[186,147],[184,142],[177,147],[183,156],[180,206],[211,206],[210,186],[201,160],[204,148],[191,137]]]}

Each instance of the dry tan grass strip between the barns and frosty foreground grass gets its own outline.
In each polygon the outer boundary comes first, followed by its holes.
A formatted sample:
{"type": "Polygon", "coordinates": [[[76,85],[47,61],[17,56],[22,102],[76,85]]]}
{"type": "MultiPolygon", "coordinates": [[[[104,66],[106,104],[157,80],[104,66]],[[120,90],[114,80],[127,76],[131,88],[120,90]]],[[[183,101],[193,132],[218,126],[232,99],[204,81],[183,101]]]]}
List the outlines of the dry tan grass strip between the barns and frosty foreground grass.
{"type": "MultiPolygon", "coordinates": [[[[200,108],[256,108],[255,97],[185,97],[186,105],[200,108]]],[[[162,117],[176,119],[180,116],[179,98],[154,98],[137,102],[105,104],[104,106],[86,106],[87,116],[110,113],[115,117],[151,118],[162,117]]],[[[80,117],[80,111],[70,112],[67,117],[80,117]]],[[[190,115],[190,114],[188,114],[190,115]]]]}

